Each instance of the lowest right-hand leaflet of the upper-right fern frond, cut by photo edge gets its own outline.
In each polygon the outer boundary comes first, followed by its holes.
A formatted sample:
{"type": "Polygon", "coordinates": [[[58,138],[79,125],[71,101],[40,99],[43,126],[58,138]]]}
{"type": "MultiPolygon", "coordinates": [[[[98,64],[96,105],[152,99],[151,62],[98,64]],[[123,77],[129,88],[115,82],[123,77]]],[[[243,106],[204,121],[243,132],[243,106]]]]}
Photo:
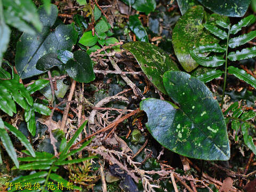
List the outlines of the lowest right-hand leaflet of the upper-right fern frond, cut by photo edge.
{"type": "Polygon", "coordinates": [[[229,66],[228,73],[235,75],[237,78],[245,81],[256,89],[256,79],[250,74],[247,74],[245,70],[229,66]]]}

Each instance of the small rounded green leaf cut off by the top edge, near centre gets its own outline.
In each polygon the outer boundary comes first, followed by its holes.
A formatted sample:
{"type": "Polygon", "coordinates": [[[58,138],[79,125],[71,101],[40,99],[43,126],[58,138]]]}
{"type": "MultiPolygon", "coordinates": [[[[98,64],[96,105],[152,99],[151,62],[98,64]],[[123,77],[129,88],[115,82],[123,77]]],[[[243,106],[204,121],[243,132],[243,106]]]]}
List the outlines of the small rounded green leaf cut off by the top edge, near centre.
{"type": "Polygon", "coordinates": [[[156,9],[156,1],[155,0],[136,0],[132,5],[132,8],[137,11],[149,14],[150,12],[156,9]]]}

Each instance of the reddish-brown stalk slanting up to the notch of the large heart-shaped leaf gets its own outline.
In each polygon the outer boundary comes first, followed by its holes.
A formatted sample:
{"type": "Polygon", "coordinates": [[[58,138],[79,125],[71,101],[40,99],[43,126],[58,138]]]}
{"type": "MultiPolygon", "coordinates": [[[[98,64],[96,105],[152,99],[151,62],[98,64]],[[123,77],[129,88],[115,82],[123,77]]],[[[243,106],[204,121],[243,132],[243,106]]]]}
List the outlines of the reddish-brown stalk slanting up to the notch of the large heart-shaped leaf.
{"type": "Polygon", "coordinates": [[[140,108],[138,108],[138,109],[132,111],[132,112],[129,113],[129,114],[126,114],[125,116],[123,116],[123,117],[117,119],[115,122],[110,123],[110,124],[109,124],[108,126],[106,126],[104,129],[101,129],[101,130],[99,130],[99,131],[97,131],[97,132],[95,132],[95,133],[89,135],[89,136],[86,137],[85,139],[83,139],[83,140],[77,142],[76,144],[74,144],[73,146],[71,146],[70,149],[73,149],[74,147],[76,147],[76,146],[79,145],[80,143],[83,143],[83,142],[86,141],[87,139],[92,138],[94,135],[97,135],[97,134],[99,134],[99,133],[101,133],[101,132],[103,132],[103,131],[107,131],[107,130],[111,129],[112,127],[116,126],[117,124],[123,122],[125,119],[127,119],[127,118],[129,118],[129,117],[131,117],[131,116],[133,116],[133,115],[135,115],[135,114],[137,114],[139,111],[140,111],[140,108]]]}

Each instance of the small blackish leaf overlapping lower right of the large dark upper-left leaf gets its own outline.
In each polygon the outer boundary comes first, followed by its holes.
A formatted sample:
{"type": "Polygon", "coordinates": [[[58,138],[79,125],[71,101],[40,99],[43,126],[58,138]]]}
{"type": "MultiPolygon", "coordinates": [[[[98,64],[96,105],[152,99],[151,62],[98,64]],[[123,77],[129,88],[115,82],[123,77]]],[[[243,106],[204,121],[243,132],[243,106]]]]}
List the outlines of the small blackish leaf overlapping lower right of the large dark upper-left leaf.
{"type": "Polygon", "coordinates": [[[62,69],[62,62],[58,59],[58,55],[56,53],[47,53],[38,59],[36,63],[36,68],[41,71],[50,70],[55,66],[62,69]]]}

